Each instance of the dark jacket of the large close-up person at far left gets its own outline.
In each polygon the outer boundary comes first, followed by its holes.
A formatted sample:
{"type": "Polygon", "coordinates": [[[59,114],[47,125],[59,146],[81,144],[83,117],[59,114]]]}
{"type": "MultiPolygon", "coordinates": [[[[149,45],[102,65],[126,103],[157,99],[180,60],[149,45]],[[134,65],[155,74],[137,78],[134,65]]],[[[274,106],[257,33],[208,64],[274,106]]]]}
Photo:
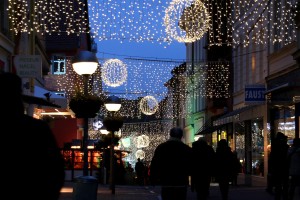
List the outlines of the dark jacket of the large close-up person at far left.
{"type": "Polygon", "coordinates": [[[6,161],[3,170],[9,173],[2,180],[15,181],[21,188],[11,193],[11,184],[5,184],[3,190],[11,199],[57,200],[64,184],[64,160],[49,126],[26,115],[15,118],[14,123],[11,130],[6,129],[5,138],[12,142],[13,151],[2,156],[6,161]]]}

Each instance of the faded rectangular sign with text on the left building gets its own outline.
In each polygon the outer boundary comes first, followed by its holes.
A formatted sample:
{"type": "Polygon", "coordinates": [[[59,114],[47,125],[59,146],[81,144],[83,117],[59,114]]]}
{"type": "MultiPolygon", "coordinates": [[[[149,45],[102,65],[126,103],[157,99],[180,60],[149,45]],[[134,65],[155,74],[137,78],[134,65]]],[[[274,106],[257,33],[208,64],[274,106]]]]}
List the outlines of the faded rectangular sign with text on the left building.
{"type": "Polygon", "coordinates": [[[21,78],[41,78],[42,58],[39,55],[16,55],[14,67],[21,78]]]}

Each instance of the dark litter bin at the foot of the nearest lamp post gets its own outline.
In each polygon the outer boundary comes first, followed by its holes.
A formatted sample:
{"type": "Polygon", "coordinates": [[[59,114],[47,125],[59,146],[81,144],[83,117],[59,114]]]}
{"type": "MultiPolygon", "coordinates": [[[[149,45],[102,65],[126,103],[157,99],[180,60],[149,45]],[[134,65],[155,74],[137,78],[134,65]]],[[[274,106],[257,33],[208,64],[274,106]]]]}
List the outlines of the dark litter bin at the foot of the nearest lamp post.
{"type": "Polygon", "coordinates": [[[93,176],[78,176],[74,179],[73,200],[97,200],[98,180],[93,176]]]}

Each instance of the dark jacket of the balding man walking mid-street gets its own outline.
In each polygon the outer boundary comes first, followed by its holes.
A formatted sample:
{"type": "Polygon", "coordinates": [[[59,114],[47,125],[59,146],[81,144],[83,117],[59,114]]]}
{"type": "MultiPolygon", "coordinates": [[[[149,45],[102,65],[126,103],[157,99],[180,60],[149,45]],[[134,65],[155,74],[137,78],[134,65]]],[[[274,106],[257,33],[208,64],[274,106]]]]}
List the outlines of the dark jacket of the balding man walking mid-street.
{"type": "Polygon", "coordinates": [[[152,184],[188,185],[191,175],[191,153],[191,147],[175,138],[158,145],[150,165],[152,184]]]}

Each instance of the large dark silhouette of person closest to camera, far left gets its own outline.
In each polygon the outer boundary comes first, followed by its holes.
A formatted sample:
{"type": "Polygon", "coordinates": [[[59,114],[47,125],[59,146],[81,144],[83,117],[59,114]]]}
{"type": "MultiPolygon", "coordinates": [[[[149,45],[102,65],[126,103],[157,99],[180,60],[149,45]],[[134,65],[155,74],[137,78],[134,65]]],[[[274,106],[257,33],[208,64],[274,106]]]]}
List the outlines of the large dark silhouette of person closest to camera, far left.
{"type": "Polygon", "coordinates": [[[20,77],[0,73],[0,93],[1,137],[6,144],[1,145],[5,162],[2,195],[9,199],[57,200],[64,184],[64,160],[50,127],[24,114],[20,77]],[[20,187],[11,192],[16,186],[20,187]]]}

